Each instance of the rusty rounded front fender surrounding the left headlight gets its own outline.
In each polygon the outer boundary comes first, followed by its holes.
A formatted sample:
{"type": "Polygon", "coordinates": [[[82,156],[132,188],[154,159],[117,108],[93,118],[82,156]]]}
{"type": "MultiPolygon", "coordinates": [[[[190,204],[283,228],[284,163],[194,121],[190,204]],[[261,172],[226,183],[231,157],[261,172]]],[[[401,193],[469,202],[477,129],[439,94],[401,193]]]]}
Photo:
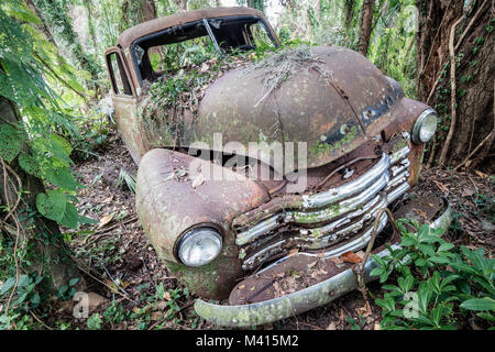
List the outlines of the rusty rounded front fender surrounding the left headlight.
{"type": "Polygon", "coordinates": [[[228,295],[242,275],[231,221],[267,200],[255,182],[191,155],[156,148],[140,163],[136,212],[143,230],[168,270],[202,297],[228,295]],[[176,244],[201,224],[220,232],[223,249],[212,263],[191,268],[177,261],[176,244]]]}

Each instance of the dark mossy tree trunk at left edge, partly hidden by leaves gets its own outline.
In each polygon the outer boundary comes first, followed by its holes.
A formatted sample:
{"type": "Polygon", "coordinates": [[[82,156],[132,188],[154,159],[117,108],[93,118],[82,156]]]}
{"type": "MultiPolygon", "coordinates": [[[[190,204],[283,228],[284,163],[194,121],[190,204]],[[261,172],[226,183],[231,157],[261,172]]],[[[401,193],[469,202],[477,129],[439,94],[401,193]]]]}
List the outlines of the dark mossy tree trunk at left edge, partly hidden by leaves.
{"type": "MultiPolygon", "coordinates": [[[[0,124],[16,124],[20,117],[14,105],[0,96],[0,124]]],[[[24,145],[24,151],[28,146],[24,145]]],[[[19,180],[22,184],[22,198],[12,216],[0,211],[0,235],[12,237],[18,242],[30,241],[33,257],[30,257],[30,266],[19,263],[19,271],[38,272],[46,278],[45,288],[56,292],[66,285],[70,278],[79,277],[76,266],[70,261],[69,251],[64,244],[58,226],[46,218],[33,217],[36,195],[44,191],[41,180],[26,174],[18,164],[16,158],[10,164],[4,162],[6,168],[0,164],[0,205],[12,209],[16,204],[19,180]],[[15,173],[15,175],[12,173],[15,173]],[[19,176],[19,180],[16,178],[19,176]],[[10,206],[10,207],[9,207],[10,206]],[[19,224],[19,230],[18,230],[19,224]]]]}

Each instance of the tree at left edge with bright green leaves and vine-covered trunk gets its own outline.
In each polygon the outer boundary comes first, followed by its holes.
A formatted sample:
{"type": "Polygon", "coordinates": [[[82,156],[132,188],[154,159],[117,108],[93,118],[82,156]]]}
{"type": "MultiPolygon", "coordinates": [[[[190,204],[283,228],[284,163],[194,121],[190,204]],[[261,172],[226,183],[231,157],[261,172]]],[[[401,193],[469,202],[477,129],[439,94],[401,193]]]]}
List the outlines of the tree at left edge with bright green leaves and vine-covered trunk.
{"type": "MultiPolygon", "coordinates": [[[[18,0],[7,1],[20,9],[18,0]]],[[[8,321],[19,317],[18,308],[38,305],[41,289],[56,292],[79,276],[58,228],[77,228],[80,219],[70,194],[78,185],[68,169],[69,148],[57,134],[70,121],[44,80],[50,73],[37,59],[45,55],[34,53],[43,51],[34,44],[35,31],[0,7],[0,275],[8,321]]]]}

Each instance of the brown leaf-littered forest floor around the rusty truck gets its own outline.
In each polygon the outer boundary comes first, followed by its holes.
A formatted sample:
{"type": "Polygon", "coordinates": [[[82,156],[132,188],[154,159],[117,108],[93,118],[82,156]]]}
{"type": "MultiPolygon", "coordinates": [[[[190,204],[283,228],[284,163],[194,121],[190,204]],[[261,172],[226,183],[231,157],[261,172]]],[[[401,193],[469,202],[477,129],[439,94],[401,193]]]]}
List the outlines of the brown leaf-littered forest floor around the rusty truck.
{"type": "MultiPolygon", "coordinates": [[[[136,173],[114,132],[99,157],[76,167],[79,182],[87,187],[78,194],[79,209],[99,221],[77,233],[67,231],[79,266],[88,274],[91,318],[73,318],[72,306],[61,306],[47,324],[59,326],[63,320],[70,329],[219,329],[198,318],[195,297],[157,258],[136,219],[134,195],[125,183],[118,183],[121,168],[136,173]]],[[[446,196],[454,221],[444,238],[472,249],[483,246],[487,257],[495,250],[493,191],[492,176],[440,169],[424,169],[415,188],[418,194],[446,196]]],[[[376,282],[369,289],[383,296],[376,282]]],[[[257,329],[373,330],[380,329],[381,311],[373,300],[365,301],[361,293],[352,292],[327,306],[257,329]]]]}

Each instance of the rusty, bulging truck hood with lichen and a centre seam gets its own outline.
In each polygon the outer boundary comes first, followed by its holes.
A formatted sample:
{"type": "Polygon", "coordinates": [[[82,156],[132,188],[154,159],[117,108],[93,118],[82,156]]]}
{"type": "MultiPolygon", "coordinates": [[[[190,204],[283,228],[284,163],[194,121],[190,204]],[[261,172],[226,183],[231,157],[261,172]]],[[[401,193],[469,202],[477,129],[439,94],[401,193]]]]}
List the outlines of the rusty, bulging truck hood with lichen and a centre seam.
{"type": "Polygon", "coordinates": [[[354,51],[309,50],[319,62],[318,69],[302,67],[272,91],[265,88],[271,67],[238,68],[217,79],[180,144],[200,141],[218,150],[213,134],[221,133],[222,145],[239,142],[235,153],[249,155],[250,142],[294,142],[297,163],[298,155],[304,155],[297,143],[305,142],[307,167],[316,167],[378,135],[400,105],[400,86],[354,51]]]}

